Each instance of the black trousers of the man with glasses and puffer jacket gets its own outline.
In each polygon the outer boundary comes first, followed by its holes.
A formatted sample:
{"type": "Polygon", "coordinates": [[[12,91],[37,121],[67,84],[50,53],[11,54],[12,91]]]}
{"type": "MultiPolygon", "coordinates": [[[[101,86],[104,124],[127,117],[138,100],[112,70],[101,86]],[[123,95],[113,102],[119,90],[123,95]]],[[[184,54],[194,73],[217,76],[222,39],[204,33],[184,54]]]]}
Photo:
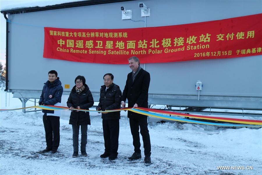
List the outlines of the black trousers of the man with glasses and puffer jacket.
{"type": "Polygon", "coordinates": [[[103,133],[105,140],[105,152],[111,156],[118,155],[119,119],[103,119],[103,133]]]}

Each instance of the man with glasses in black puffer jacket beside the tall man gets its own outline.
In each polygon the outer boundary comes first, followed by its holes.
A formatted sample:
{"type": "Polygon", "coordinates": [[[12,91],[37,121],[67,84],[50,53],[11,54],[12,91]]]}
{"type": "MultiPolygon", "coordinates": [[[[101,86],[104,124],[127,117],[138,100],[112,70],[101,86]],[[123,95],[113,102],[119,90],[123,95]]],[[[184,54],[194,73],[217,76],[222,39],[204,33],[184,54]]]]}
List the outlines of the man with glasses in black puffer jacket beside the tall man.
{"type": "MultiPolygon", "coordinates": [[[[103,79],[105,85],[102,85],[100,89],[100,99],[97,110],[106,111],[120,108],[122,92],[119,86],[113,83],[114,76],[108,73],[104,75],[103,79]]],[[[102,112],[102,119],[105,153],[100,155],[100,157],[109,157],[109,160],[115,160],[118,155],[120,111],[109,113],[102,112]]]]}

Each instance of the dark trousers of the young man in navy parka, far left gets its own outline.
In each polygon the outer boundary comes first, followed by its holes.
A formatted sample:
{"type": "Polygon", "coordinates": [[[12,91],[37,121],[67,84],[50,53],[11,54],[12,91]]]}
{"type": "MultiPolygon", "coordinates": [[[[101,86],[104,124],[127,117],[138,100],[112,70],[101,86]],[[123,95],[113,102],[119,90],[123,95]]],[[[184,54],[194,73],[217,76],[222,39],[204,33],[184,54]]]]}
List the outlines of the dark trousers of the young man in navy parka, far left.
{"type": "Polygon", "coordinates": [[[60,117],[43,115],[47,148],[57,149],[60,143],[60,117]]]}

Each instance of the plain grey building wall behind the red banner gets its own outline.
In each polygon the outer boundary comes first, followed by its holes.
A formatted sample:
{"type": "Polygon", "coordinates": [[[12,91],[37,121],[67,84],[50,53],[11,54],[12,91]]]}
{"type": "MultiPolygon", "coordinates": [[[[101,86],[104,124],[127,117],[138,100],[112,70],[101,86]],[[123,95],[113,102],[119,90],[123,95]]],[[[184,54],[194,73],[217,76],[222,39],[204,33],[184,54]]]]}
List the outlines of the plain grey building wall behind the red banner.
{"type": "MultiPolygon", "coordinates": [[[[33,92],[39,95],[47,72],[56,70],[62,85],[70,84],[77,75],[86,83],[96,100],[105,73],[114,74],[114,83],[123,90],[130,72],[126,65],[69,62],[43,58],[44,28],[120,29],[144,27],[144,22],[121,20],[120,7],[132,9],[132,20],[144,20],[138,3],[127,1],[93,6],[64,8],[8,15],[9,89],[10,92],[33,92]],[[40,26],[40,27],[34,27],[40,26]],[[42,26],[42,27],[41,27],[42,26]],[[30,91],[29,91],[30,90],[30,91]],[[33,90],[33,91],[32,91],[33,90]]],[[[143,1],[151,10],[146,27],[158,27],[262,13],[262,1],[143,1]]],[[[128,58],[127,58],[128,59],[128,58]]],[[[144,64],[141,64],[144,68],[144,64]]],[[[149,103],[188,106],[262,108],[262,56],[217,60],[196,60],[146,64],[151,74],[149,103]],[[200,100],[196,82],[203,83],[200,100]]]]}

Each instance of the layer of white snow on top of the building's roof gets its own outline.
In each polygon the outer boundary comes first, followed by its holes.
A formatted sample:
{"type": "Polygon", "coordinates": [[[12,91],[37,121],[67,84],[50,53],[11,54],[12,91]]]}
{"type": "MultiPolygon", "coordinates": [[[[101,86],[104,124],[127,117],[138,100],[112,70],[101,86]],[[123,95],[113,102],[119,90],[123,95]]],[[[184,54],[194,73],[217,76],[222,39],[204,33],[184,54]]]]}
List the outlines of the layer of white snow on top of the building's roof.
{"type": "Polygon", "coordinates": [[[14,9],[20,9],[20,8],[29,8],[29,7],[45,7],[45,6],[53,6],[57,4],[63,4],[63,3],[70,3],[70,2],[77,2],[77,1],[86,1],[86,0],[40,0],[40,1],[23,1],[23,2],[16,2],[10,3],[8,5],[2,5],[0,7],[1,11],[5,10],[14,10],[14,9]]]}

